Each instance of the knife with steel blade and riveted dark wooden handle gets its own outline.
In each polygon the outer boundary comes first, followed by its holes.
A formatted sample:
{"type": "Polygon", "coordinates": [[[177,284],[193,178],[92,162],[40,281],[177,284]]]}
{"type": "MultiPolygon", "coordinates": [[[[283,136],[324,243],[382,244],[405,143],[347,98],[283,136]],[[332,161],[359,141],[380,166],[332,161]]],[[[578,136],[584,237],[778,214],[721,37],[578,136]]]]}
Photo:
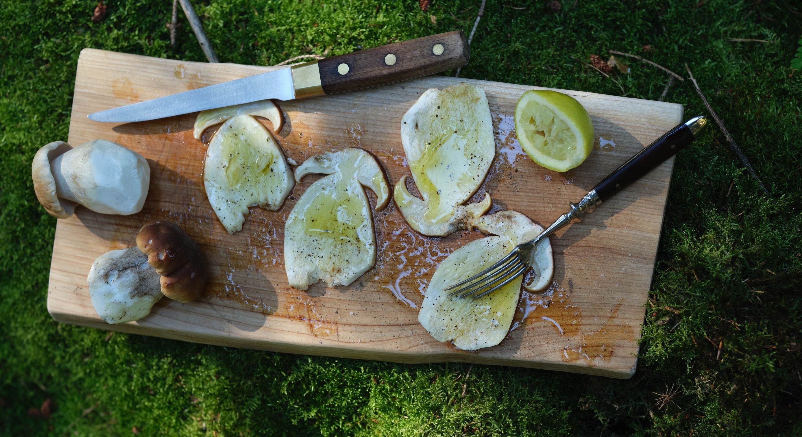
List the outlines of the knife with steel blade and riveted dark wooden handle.
{"type": "Polygon", "coordinates": [[[469,58],[465,34],[462,30],[454,30],[302,63],[87,116],[95,121],[129,123],[264,99],[304,99],[432,75],[462,67],[469,58]]]}

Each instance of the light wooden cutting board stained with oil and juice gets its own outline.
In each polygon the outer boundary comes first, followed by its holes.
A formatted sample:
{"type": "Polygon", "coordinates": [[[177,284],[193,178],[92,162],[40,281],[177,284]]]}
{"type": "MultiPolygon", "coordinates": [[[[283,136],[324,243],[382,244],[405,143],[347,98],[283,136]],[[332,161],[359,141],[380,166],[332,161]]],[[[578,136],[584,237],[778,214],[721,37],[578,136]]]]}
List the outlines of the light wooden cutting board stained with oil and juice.
{"type": "MultiPolygon", "coordinates": [[[[283,224],[318,176],[297,184],[283,208],[251,208],[233,236],[217,221],[203,185],[205,144],[192,138],[195,114],[143,123],[96,123],[87,114],[275,67],[180,62],[84,50],[75,78],[70,144],[106,139],[140,152],[151,166],[142,212],[107,216],[78,208],[56,225],[47,309],[55,320],[190,342],[393,362],[475,362],[629,378],[650,287],[673,160],[552,237],[556,273],[545,293],[524,293],[514,329],[500,345],[468,352],[436,342],[417,322],[427,281],[448,253],[483,234],[422,237],[393,204],[375,214],[376,267],[347,287],[306,291],[286,283],[283,224]],[[95,257],[135,245],[141,225],[174,221],[198,242],[209,281],[198,301],[167,298],[148,317],[108,325],[95,314],[87,273],[95,257]]],[[[474,199],[492,194],[492,212],[510,208],[549,225],[593,185],[681,121],[683,107],[591,92],[563,91],[593,119],[596,143],[579,168],[557,173],[533,164],[516,141],[512,114],[536,87],[430,76],[363,91],[279,102],[287,123],[277,140],[298,161],[365,148],[391,184],[408,174],[399,123],[430,87],[460,81],[484,87],[496,127],[496,160],[474,199]]],[[[269,122],[264,120],[265,125],[269,122]]],[[[209,132],[205,140],[209,140],[209,132]]],[[[61,140],[54,138],[53,140],[61,140]]],[[[414,189],[414,188],[413,188],[414,189]]],[[[371,202],[375,196],[369,192],[371,202]]]]}

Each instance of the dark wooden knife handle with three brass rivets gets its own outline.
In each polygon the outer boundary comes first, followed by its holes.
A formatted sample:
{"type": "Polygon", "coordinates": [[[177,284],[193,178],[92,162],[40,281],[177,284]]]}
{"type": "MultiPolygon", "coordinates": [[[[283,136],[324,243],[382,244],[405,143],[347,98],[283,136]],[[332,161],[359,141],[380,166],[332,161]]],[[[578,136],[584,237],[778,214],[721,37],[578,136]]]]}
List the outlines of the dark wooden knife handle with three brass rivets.
{"type": "Polygon", "coordinates": [[[323,92],[352,91],[399,82],[468,63],[462,30],[387,44],[318,61],[323,92]]]}

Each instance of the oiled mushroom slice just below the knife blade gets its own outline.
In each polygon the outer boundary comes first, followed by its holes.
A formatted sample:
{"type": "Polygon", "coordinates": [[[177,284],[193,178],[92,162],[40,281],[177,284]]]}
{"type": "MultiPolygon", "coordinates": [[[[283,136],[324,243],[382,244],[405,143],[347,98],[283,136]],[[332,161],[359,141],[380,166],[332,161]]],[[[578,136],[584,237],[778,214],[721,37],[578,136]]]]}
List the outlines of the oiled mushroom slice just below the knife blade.
{"type": "Polygon", "coordinates": [[[204,185],[229,233],[242,229],[249,207],[281,208],[295,184],[282,149],[257,115],[282,129],[281,111],[270,100],[202,111],[195,121],[197,139],[207,127],[223,123],[206,151],[204,185]]]}

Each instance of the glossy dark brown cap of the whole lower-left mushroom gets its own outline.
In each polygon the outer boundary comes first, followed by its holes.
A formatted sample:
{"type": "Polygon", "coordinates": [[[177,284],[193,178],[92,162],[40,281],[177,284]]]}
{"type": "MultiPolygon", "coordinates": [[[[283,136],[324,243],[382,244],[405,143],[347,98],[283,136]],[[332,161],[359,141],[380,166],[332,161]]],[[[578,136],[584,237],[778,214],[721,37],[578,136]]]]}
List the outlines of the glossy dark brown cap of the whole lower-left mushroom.
{"type": "Polygon", "coordinates": [[[184,229],[169,221],[152,221],[140,229],[136,246],[161,275],[164,296],[188,302],[201,295],[206,282],[201,249],[184,229]]]}

